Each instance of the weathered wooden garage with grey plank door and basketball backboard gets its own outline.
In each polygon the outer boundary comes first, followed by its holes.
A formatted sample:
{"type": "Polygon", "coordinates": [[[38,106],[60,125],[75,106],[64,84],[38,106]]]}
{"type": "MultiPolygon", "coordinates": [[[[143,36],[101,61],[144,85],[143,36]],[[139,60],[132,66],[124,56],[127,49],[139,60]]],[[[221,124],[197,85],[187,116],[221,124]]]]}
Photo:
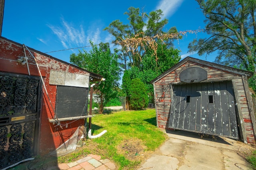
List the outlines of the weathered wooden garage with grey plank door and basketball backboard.
{"type": "Polygon", "coordinates": [[[186,57],[151,81],[158,127],[255,143],[256,121],[247,82],[252,75],[186,57]]]}

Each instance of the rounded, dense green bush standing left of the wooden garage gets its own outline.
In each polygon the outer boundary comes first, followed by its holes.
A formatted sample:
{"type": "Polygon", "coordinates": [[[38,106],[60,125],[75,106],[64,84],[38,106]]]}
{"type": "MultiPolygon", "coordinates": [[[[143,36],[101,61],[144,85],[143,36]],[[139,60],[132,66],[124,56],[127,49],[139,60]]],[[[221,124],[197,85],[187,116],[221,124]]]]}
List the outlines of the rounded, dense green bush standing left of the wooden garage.
{"type": "Polygon", "coordinates": [[[139,78],[132,79],[130,95],[130,104],[132,109],[141,110],[148,107],[148,94],[146,92],[146,86],[139,78]]]}

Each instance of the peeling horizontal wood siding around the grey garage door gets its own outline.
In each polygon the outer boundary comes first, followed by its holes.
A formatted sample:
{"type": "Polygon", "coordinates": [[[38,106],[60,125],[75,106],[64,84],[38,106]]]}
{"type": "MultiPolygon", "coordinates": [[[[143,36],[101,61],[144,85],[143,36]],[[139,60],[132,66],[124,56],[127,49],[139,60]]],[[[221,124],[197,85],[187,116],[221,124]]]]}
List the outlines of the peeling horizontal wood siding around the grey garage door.
{"type": "Polygon", "coordinates": [[[172,90],[172,88],[170,88],[170,86],[172,86],[171,84],[184,83],[180,81],[180,72],[192,66],[199,66],[200,68],[203,68],[207,71],[208,78],[206,80],[203,80],[202,82],[232,80],[235,90],[234,97],[236,98],[236,103],[238,104],[238,116],[240,118],[240,125],[242,125],[241,128],[243,130],[242,138],[244,139],[244,142],[255,142],[252,117],[250,116],[251,113],[248,106],[248,99],[246,98],[246,91],[244,88],[244,86],[248,86],[248,84],[244,84],[242,75],[194,63],[191,61],[184,63],[172,72],[169,72],[166,76],[154,82],[158,127],[168,127],[168,121],[170,118],[170,106],[172,102],[172,92],[170,91],[170,89],[172,90]]]}

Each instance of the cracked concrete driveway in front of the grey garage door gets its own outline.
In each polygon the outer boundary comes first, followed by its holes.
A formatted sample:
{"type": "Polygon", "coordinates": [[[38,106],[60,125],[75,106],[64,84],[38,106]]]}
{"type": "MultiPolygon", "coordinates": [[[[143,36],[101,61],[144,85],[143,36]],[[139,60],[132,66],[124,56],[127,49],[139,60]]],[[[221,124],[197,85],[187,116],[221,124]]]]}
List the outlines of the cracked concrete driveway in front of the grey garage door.
{"type": "Polygon", "coordinates": [[[138,170],[249,170],[250,145],[226,137],[167,131],[168,140],[138,170]]]}

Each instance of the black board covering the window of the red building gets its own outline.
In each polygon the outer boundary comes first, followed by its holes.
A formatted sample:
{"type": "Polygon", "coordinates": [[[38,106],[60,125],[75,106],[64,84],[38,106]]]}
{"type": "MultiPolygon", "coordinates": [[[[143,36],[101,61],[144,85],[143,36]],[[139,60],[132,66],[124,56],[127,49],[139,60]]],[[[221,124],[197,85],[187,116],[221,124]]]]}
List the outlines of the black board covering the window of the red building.
{"type": "Polygon", "coordinates": [[[56,115],[58,118],[84,116],[89,88],[57,86],[56,115]]]}

